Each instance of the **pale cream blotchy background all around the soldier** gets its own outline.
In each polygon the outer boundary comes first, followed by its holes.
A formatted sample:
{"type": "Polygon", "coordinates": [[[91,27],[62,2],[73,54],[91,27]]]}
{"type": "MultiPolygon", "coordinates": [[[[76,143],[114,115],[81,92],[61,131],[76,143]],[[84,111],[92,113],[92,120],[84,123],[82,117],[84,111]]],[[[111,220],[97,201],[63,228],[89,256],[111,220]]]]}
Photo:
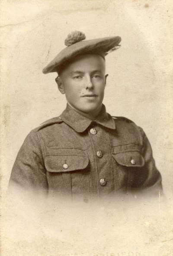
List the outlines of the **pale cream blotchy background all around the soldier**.
{"type": "Polygon", "coordinates": [[[171,0],[1,1],[1,255],[173,255],[172,17],[171,0]],[[120,49],[106,56],[103,103],[146,132],[162,175],[162,205],[78,206],[70,214],[64,202],[39,203],[35,214],[35,205],[31,210],[25,202],[8,211],[10,173],[26,135],[66,106],[56,74],[42,69],[74,30],[86,39],[122,37],[120,49]]]}

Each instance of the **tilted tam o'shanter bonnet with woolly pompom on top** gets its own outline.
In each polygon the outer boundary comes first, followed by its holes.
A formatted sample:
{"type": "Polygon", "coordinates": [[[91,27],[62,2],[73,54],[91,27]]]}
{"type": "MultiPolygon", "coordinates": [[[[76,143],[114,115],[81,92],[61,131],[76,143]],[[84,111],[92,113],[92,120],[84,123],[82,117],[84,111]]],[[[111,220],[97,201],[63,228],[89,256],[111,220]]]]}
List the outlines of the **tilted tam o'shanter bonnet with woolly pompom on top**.
{"type": "Polygon", "coordinates": [[[121,42],[120,36],[104,37],[85,40],[86,36],[80,31],[70,33],[65,39],[67,46],[43,69],[43,73],[57,72],[64,64],[80,54],[99,54],[103,58],[110,52],[118,49],[121,42]]]}

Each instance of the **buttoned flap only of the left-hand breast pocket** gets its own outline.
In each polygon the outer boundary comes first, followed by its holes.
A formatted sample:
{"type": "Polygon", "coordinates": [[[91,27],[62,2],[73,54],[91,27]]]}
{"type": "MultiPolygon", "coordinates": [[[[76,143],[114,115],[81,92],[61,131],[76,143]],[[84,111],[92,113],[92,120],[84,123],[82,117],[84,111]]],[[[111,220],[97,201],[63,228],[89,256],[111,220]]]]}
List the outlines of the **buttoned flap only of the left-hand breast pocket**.
{"type": "Polygon", "coordinates": [[[88,164],[89,158],[82,155],[48,155],[45,158],[45,167],[49,172],[83,170],[88,164]]]}

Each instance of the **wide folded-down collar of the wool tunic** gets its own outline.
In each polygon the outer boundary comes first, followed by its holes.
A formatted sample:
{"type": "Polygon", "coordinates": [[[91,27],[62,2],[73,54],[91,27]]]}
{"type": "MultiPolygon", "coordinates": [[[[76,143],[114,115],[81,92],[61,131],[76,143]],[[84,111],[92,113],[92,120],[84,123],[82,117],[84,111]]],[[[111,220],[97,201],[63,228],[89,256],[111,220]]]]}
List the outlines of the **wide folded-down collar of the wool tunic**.
{"type": "Polygon", "coordinates": [[[106,112],[105,105],[102,105],[99,115],[96,116],[95,119],[91,120],[67,104],[67,107],[60,115],[60,118],[77,132],[85,131],[93,122],[109,129],[115,129],[115,121],[112,116],[106,112]]]}

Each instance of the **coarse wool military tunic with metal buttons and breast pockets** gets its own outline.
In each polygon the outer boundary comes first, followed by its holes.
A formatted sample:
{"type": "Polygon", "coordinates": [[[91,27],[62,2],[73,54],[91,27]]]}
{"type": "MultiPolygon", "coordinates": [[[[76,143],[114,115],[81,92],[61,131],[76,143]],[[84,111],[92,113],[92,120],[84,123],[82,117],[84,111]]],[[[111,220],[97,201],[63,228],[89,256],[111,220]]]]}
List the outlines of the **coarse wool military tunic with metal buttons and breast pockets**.
{"type": "Polygon", "coordinates": [[[10,184],[72,197],[102,197],[161,189],[151,145],[127,118],[103,105],[91,120],[67,104],[64,112],[32,130],[19,150],[10,184]]]}

